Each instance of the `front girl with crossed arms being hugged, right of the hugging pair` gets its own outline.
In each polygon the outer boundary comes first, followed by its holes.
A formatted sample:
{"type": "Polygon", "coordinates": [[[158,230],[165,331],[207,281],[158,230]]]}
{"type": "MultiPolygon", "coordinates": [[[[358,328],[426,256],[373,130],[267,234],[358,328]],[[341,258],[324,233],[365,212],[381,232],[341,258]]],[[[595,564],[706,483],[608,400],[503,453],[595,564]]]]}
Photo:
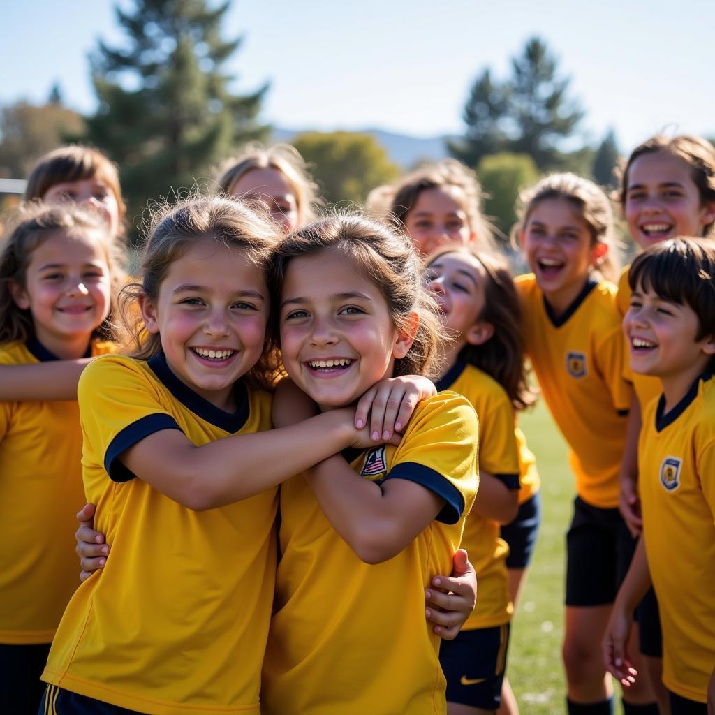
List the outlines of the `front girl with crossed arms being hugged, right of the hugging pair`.
{"type": "MultiPolygon", "coordinates": [[[[274,275],[293,382],[277,390],[278,424],[316,408],[330,416],[379,380],[433,364],[438,316],[407,237],[329,217],[280,244],[274,275]]],[[[441,393],[418,405],[398,446],[347,450],[282,485],[265,715],[445,713],[420,590],[450,571],[476,455],[473,408],[441,393]]]]}

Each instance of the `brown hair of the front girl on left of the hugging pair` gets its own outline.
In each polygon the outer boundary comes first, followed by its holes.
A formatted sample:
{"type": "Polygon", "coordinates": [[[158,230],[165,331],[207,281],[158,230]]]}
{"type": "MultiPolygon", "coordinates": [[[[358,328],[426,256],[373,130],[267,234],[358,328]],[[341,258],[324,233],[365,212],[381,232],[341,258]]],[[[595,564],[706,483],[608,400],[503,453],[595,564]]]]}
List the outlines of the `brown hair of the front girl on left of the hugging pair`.
{"type": "MultiPolygon", "coordinates": [[[[154,209],[149,237],[139,257],[137,277],[122,292],[122,316],[133,338],[132,357],[149,360],[162,350],[161,336],[149,333],[136,309],[136,300],[146,297],[156,304],[169,267],[197,241],[245,252],[256,270],[266,272],[272,251],[280,240],[280,230],[267,217],[229,197],[194,196],[178,204],[154,209]]],[[[264,354],[247,373],[253,385],[270,388],[275,383],[275,358],[264,354]]]]}

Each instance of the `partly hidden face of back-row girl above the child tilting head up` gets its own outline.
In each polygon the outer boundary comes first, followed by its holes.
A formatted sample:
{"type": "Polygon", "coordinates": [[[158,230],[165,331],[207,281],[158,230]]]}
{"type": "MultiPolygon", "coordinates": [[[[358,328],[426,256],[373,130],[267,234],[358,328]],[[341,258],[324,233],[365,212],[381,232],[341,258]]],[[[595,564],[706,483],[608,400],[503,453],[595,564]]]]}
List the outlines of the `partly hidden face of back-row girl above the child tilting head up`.
{"type": "Polygon", "coordinates": [[[474,240],[464,209],[464,192],[456,186],[420,192],[405,216],[405,227],[415,249],[423,256],[450,241],[466,245],[474,240]]]}

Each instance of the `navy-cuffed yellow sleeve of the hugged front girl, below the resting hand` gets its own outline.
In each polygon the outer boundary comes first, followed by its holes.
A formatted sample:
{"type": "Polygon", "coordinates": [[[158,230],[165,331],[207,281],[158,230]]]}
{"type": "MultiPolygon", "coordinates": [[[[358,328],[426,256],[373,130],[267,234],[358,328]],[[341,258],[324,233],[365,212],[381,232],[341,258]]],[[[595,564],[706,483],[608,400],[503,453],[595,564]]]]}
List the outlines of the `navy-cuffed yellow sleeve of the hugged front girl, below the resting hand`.
{"type": "Polygon", "coordinates": [[[445,501],[438,521],[457,523],[472,508],[478,486],[479,428],[468,400],[440,393],[420,404],[385,479],[418,483],[445,501]]]}

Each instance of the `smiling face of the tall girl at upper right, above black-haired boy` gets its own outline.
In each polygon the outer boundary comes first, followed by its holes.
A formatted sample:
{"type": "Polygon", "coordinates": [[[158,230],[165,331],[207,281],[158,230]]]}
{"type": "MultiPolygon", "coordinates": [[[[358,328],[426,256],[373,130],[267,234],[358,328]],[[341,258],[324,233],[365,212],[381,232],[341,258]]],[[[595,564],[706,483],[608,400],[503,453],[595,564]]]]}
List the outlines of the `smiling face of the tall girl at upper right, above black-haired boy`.
{"type": "Polygon", "coordinates": [[[628,231],[643,249],[676,236],[700,236],[715,220],[715,207],[701,205],[687,162],[669,152],[643,154],[628,169],[624,214],[628,231]]]}

